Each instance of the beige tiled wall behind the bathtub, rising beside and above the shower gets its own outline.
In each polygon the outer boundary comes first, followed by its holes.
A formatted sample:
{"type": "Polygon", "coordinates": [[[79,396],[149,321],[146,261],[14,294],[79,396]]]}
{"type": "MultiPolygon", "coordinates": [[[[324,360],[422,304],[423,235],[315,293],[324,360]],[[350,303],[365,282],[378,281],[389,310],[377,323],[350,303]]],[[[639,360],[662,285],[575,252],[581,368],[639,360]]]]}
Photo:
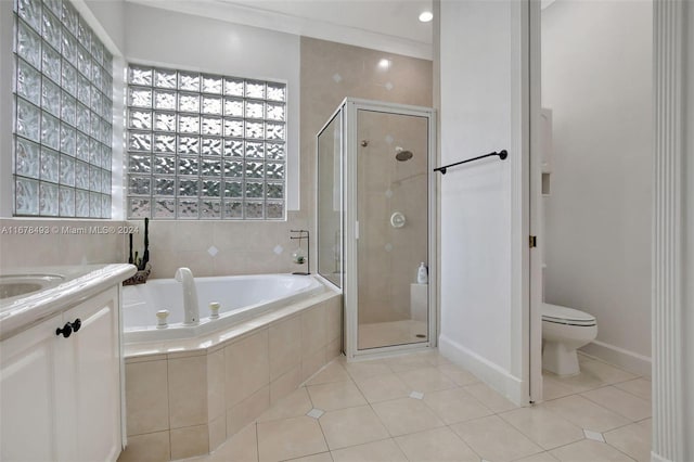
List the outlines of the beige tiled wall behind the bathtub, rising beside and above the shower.
{"type": "Polygon", "coordinates": [[[290,230],[308,229],[314,236],[316,134],[346,97],[430,106],[432,78],[430,61],[303,37],[300,210],[290,211],[286,222],[153,220],[152,277],[172,278],[181,266],[195,275],[305,270],[292,264],[296,241],[290,230]],[[390,60],[387,69],[378,66],[384,57],[390,60]]]}

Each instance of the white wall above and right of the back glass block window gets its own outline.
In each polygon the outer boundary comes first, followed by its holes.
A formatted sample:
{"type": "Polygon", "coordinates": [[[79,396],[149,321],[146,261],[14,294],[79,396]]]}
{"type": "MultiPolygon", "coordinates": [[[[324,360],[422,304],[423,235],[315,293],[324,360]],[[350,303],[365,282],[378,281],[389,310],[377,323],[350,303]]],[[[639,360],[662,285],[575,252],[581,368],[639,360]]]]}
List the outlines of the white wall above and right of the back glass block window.
{"type": "Polygon", "coordinates": [[[129,62],[287,82],[287,210],[299,208],[299,37],[126,3],[129,62]]]}

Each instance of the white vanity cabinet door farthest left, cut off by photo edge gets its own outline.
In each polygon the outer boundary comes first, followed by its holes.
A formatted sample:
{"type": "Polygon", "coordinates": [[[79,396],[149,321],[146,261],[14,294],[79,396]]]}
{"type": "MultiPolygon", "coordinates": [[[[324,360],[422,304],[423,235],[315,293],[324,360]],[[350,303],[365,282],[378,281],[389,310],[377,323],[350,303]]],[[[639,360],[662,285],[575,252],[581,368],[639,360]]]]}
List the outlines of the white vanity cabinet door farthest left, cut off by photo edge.
{"type": "Polygon", "coordinates": [[[62,325],[59,315],[0,344],[0,460],[56,459],[59,345],[68,339],[55,335],[62,325]]]}

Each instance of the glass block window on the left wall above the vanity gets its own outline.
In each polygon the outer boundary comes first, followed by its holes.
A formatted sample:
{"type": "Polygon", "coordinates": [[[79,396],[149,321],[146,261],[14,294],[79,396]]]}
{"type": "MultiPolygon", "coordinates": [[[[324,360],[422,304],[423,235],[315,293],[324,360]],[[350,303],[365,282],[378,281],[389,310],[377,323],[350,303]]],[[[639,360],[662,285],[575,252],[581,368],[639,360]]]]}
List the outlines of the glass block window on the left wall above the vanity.
{"type": "Polygon", "coordinates": [[[14,215],[111,218],[111,54],[68,0],[15,0],[14,64],[14,215]]]}

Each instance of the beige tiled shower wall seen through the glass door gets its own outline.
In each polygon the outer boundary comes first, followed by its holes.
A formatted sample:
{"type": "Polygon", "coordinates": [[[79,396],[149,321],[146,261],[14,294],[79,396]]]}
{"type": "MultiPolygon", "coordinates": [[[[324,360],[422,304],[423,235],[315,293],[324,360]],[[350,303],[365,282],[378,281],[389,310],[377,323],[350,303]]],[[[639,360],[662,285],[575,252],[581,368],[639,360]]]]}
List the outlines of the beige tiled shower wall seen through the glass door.
{"type": "Polygon", "coordinates": [[[358,115],[359,322],[410,319],[410,284],[427,262],[428,125],[423,117],[375,112],[358,115]],[[398,162],[396,147],[412,152],[398,162]],[[399,211],[406,224],[390,224],[399,211]]]}

